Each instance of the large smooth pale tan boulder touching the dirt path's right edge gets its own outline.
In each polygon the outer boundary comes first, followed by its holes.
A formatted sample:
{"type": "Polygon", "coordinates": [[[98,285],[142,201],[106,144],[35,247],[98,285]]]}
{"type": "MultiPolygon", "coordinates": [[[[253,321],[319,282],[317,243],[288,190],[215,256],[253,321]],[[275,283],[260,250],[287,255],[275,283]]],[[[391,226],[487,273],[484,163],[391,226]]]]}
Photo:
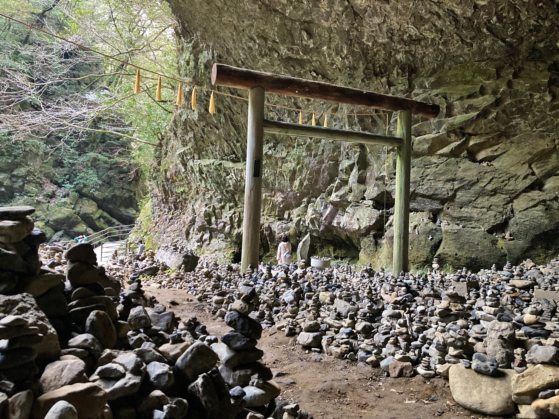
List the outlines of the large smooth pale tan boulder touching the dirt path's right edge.
{"type": "Polygon", "coordinates": [[[448,382],[452,397],[463,408],[485,415],[510,415],[515,410],[511,398],[511,379],[517,375],[514,370],[499,370],[495,377],[476,373],[462,364],[454,364],[449,369],[448,382]]]}

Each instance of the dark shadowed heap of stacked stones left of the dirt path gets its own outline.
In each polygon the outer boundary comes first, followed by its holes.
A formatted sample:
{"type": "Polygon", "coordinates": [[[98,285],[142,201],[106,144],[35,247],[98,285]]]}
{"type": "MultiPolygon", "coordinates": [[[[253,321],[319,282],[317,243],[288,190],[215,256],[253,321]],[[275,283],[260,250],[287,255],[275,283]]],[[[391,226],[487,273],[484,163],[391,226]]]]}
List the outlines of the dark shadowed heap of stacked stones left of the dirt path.
{"type": "MultiPolygon", "coordinates": [[[[255,408],[270,410],[267,417],[285,413],[274,400],[277,386],[264,380],[271,379],[269,368],[255,366],[262,358],[255,343],[239,351],[234,339],[228,341],[238,352],[234,366],[227,361],[235,371],[231,388],[219,369],[225,361],[210,347],[217,337],[208,336],[196,317],[178,318],[145,295],[140,277],[169,270],[155,263],[153,252],[133,259],[142,269],[107,273],[88,243],[65,251],[45,246],[33,212],[0,208],[1,418],[263,418],[255,408]],[[121,290],[121,282],[129,287],[121,290]]],[[[256,298],[254,291],[247,294],[256,298]]],[[[256,342],[260,323],[238,314],[244,320],[231,333],[256,342]]]]}

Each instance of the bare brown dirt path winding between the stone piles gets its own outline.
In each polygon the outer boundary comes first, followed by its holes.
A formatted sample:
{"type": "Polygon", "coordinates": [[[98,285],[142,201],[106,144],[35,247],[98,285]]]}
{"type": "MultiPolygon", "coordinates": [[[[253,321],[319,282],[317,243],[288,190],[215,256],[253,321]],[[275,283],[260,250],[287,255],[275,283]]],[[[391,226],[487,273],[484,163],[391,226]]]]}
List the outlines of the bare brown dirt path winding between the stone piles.
{"type": "MultiPolygon", "coordinates": [[[[186,291],[143,289],[179,317],[195,313],[212,335],[219,337],[231,330],[205,310],[206,304],[187,302],[193,296],[186,291]],[[173,306],[169,299],[179,304],[173,306]]],[[[385,378],[380,368],[361,370],[353,361],[306,353],[294,337],[285,337],[275,328],[264,330],[258,347],[282,388],[280,398],[299,403],[315,419],[495,418],[458,406],[444,378],[385,378]]]]}

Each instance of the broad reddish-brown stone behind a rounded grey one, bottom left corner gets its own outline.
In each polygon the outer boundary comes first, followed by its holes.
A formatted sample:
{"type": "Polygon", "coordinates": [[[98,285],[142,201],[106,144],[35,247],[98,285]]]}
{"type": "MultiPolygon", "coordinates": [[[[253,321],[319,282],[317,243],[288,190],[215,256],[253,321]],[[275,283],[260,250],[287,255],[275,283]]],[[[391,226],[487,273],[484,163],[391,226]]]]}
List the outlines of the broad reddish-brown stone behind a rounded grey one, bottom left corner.
{"type": "Polygon", "coordinates": [[[103,410],[108,397],[103,389],[93,383],[65,385],[38,397],[33,404],[32,413],[36,418],[44,418],[51,407],[61,400],[72,404],[80,419],[89,419],[103,410]]]}

